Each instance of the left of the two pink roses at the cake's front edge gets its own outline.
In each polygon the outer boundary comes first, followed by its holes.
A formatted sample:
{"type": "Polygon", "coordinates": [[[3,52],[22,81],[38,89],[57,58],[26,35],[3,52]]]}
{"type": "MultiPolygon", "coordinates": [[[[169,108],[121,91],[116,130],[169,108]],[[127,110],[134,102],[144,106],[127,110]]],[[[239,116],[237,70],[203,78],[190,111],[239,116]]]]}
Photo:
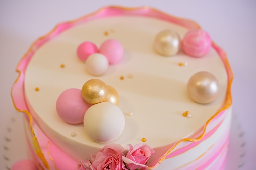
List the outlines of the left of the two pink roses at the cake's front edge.
{"type": "Polygon", "coordinates": [[[123,147],[119,144],[109,144],[103,147],[97,154],[91,155],[93,170],[122,170],[123,147]]]}

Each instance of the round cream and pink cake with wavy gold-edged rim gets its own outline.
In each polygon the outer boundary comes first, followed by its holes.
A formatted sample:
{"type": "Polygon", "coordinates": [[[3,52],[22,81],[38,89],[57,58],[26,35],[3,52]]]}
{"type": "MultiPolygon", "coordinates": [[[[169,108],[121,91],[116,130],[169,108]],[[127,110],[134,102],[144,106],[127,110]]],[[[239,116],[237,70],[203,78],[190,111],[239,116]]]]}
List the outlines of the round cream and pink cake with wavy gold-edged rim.
{"type": "Polygon", "coordinates": [[[59,24],[36,40],[17,66],[12,88],[14,106],[24,114],[29,163],[38,169],[223,169],[233,75],[225,52],[213,41],[207,53],[189,53],[184,42],[190,30],[203,29],[153,8],[113,6],[59,24]],[[154,45],[164,30],[174,31],[179,43],[183,40],[182,45],[173,43],[174,54],[168,49],[161,54],[154,45]],[[88,71],[91,64],[78,58],[78,47],[83,42],[100,47],[108,40],[122,45],[123,56],[95,75],[88,71]],[[207,99],[199,96],[203,101],[197,101],[189,91],[196,73],[213,75],[211,81],[218,82],[218,95],[206,104],[207,99]],[[89,109],[111,103],[121,110],[121,118],[115,119],[110,109],[101,115],[103,123],[93,117],[85,118],[86,124],[63,121],[56,109],[59,96],[67,89],[81,91],[90,80],[114,87],[119,103],[104,100],[89,109]],[[102,126],[107,137],[117,133],[113,129],[119,132],[110,140],[97,140],[91,135],[98,132],[89,135],[88,124],[102,126]]]}

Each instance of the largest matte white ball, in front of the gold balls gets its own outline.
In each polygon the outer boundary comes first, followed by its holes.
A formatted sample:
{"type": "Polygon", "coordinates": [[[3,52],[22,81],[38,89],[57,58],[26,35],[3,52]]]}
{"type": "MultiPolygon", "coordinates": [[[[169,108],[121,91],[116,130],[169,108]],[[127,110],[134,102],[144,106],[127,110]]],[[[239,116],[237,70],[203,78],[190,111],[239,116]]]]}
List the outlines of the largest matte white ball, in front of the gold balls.
{"type": "Polygon", "coordinates": [[[123,132],[125,118],[119,107],[110,102],[92,105],[84,116],[84,129],[94,141],[106,143],[117,139],[123,132]]]}

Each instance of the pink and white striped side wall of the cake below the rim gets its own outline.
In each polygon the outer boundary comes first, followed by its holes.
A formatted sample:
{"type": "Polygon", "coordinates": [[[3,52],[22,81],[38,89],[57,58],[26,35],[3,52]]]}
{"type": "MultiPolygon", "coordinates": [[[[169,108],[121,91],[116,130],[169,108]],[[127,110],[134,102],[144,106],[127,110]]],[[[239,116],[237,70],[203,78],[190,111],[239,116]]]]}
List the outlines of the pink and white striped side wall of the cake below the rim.
{"type": "MultiPolygon", "coordinates": [[[[220,119],[220,123],[217,125],[213,124],[212,126],[214,128],[207,132],[202,140],[198,142],[182,142],[166,157],[162,157],[161,161],[152,160],[156,162],[158,161],[159,164],[156,163],[156,165],[149,168],[214,169],[214,167],[218,167],[217,169],[222,169],[221,167],[225,165],[225,155],[228,150],[231,110],[226,110],[220,119]]],[[[38,164],[42,164],[42,161],[35,155],[33,143],[31,142],[32,140],[30,140],[32,136],[29,130],[29,124],[26,123],[26,125],[29,138],[28,143],[32,146],[29,153],[34,157],[38,164]]],[[[65,167],[70,167],[72,169],[72,167],[76,167],[78,163],[76,160],[59,149],[54,142],[45,136],[36,124],[34,124],[33,128],[40,141],[41,150],[45,155],[45,159],[47,160],[50,169],[65,169],[65,167]],[[63,159],[65,159],[65,162],[63,162],[63,159]]],[[[155,162],[151,162],[150,164],[155,164],[155,162]]]]}

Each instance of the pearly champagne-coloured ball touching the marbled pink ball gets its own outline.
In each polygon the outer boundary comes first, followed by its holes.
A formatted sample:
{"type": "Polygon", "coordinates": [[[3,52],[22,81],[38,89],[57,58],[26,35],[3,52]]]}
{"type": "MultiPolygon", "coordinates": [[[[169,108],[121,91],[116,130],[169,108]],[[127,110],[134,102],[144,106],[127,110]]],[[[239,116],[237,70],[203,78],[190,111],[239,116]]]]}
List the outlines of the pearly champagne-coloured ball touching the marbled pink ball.
{"type": "Polygon", "coordinates": [[[172,56],[180,51],[181,40],[175,31],[164,30],[156,35],[154,47],[160,55],[172,56]]]}

